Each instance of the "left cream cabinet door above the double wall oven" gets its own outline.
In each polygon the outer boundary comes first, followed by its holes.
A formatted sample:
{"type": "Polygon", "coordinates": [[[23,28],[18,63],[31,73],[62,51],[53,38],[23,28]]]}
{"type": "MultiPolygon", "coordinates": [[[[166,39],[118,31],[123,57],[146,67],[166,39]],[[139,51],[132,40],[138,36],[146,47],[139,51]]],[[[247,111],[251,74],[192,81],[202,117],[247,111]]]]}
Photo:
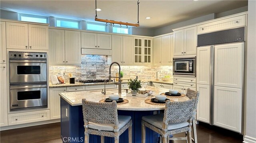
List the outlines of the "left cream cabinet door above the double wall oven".
{"type": "Polygon", "coordinates": [[[6,48],[28,49],[28,24],[6,22],[6,48]]]}

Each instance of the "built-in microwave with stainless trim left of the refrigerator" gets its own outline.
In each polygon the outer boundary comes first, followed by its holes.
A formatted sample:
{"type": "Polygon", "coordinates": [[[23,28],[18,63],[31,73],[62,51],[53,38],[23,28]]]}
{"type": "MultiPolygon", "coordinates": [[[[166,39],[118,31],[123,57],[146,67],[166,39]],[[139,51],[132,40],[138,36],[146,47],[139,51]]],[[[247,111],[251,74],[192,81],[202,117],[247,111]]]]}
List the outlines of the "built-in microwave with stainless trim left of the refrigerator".
{"type": "Polygon", "coordinates": [[[173,75],[196,77],[196,56],[173,58],[173,75]]]}

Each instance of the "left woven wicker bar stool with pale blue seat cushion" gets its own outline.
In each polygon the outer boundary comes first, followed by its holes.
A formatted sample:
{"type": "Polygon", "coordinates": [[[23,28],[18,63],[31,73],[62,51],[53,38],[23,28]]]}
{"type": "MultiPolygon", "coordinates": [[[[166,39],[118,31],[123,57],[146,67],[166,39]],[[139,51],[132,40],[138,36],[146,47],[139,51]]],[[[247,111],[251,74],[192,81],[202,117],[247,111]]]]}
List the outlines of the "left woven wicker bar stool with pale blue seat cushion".
{"type": "Polygon", "coordinates": [[[129,133],[129,143],[132,143],[131,116],[118,115],[116,105],[116,101],[99,103],[82,99],[85,143],[89,143],[89,134],[100,135],[101,143],[104,143],[105,136],[114,137],[115,143],[118,143],[119,136],[126,129],[129,133]]]}

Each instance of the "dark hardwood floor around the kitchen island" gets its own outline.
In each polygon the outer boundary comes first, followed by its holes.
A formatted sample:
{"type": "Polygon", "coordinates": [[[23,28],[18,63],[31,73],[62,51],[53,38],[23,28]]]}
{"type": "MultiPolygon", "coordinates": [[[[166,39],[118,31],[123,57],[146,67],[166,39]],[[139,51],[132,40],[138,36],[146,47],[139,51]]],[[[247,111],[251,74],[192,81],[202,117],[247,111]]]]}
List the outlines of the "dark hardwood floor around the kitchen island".
{"type": "MultiPolygon", "coordinates": [[[[200,122],[196,125],[198,143],[242,143],[243,136],[220,127],[200,122]]],[[[182,137],[184,133],[174,137],[182,137]]],[[[60,123],[51,123],[0,131],[0,143],[61,143],[60,123]]],[[[171,141],[170,141],[171,143],[171,141]]],[[[186,141],[173,141],[186,143],[186,141]]]]}

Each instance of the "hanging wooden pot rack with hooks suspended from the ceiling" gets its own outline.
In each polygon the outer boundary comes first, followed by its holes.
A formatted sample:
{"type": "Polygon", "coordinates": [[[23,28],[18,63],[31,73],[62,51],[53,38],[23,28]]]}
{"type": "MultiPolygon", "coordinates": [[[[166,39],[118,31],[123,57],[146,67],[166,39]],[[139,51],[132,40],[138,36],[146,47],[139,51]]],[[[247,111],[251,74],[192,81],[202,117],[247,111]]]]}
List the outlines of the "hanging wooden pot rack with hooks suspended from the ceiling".
{"type": "Polygon", "coordinates": [[[138,4],[138,22],[137,24],[131,24],[131,23],[128,23],[128,22],[117,22],[117,21],[114,21],[114,20],[103,20],[103,19],[99,19],[98,16],[97,16],[97,0],[95,0],[95,21],[98,21],[98,22],[106,22],[106,25],[108,25],[108,23],[110,24],[110,26],[113,26],[114,27],[114,24],[118,24],[120,25],[120,27],[122,27],[122,25],[126,25],[126,28],[128,28],[128,25],[129,26],[135,26],[135,27],[139,27],[140,26],[140,23],[139,23],[139,0],[137,2],[138,4]]]}

